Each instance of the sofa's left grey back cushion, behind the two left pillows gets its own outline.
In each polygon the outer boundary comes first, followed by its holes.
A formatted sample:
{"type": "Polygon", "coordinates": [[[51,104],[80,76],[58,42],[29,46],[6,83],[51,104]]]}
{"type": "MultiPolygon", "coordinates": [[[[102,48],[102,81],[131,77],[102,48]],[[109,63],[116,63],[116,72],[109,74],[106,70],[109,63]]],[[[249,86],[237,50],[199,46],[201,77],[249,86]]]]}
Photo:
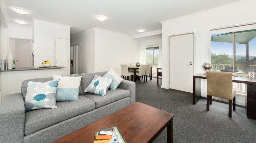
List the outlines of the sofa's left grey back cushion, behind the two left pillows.
{"type": "MultiPolygon", "coordinates": [[[[80,76],[80,75],[79,74],[73,74],[73,75],[67,75],[67,76],[80,76]]],[[[25,99],[25,96],[27,94],[28,81],[44,83],[44,82],[48,82],[48,81],[51,81],[51,80],[52,80],[52,77],[46,77],[46,78],[27,79],[27,80],[23,81],[22,84],[21,84],[21,94],[23,95],[23,99],[25,99]]],[[[81,83],[80,83],[80,86],[79,86],[79,95],[84,95],[81,83]]]]}

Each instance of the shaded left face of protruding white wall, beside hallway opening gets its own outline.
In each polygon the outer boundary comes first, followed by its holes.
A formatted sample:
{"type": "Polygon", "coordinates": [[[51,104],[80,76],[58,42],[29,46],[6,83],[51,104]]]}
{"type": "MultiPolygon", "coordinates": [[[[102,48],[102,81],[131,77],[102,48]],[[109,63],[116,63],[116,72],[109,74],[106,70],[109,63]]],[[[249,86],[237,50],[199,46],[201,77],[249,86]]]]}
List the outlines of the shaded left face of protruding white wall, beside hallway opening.
{"type": "Polygon", "coordinates": [[[71,38],[71,45],[79,44],[79,73],[95,72],[95,28],[71,38]]]}

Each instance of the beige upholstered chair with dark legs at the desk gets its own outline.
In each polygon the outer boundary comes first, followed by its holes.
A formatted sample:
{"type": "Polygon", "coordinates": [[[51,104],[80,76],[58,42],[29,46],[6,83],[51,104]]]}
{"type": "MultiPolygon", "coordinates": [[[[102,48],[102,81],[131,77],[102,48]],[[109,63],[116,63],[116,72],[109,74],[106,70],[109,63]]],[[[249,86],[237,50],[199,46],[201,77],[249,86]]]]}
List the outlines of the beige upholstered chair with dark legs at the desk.
{"type": "Polygon", "coordinates": [[[228,117],[232,117],[232,100],[233,110],[235,111],[235,90],[233,90],[232,73],[207,71],[207,108],[212,104],[212,96],[228,99],[228,117]]]}

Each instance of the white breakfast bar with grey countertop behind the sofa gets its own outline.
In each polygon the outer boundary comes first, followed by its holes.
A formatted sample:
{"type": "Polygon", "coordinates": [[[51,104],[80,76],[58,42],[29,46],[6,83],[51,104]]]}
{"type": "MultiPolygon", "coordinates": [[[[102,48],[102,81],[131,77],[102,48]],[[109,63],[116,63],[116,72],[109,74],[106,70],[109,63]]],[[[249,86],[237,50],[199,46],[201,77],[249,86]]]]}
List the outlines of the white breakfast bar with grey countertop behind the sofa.
{"type": "Polygon", "coordinates": [[[62,75],[63,68],[65,67],[17,67],[0,70],[1,100],[5,95],[21,92],[21,83],[25,79],[52,77],[53,74],[62,75]]]}

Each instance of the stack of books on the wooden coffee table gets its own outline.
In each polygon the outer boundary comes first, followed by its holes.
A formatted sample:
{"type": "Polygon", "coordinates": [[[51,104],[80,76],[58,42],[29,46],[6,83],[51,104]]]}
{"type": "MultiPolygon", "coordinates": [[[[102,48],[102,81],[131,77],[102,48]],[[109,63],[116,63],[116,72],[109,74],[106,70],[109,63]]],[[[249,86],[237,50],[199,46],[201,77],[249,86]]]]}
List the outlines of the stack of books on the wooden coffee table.
{"type": "Polygon", "coordinates": [[[118,127],[101,128],[95,133],[94,143],[126,143],[118,127]]]}

